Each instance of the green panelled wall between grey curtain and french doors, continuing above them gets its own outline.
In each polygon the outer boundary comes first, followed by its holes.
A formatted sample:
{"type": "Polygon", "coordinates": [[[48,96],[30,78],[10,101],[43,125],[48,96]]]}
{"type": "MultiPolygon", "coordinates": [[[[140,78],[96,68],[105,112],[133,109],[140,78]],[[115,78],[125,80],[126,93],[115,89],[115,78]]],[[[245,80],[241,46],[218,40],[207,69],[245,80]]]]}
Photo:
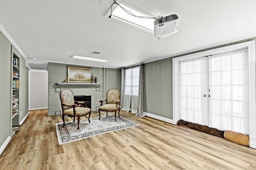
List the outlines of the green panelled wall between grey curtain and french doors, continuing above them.
{"type": "MultiPolygon", "coordinates": [[[[199,53],[252,40],[256,41],[256,37],[218,45],[216,47],[194,51],[175,57],[199,53]]],[[[172,119],[172,58],[174,57],[144,64],[144,111],[168,119],[172,119]]]]}

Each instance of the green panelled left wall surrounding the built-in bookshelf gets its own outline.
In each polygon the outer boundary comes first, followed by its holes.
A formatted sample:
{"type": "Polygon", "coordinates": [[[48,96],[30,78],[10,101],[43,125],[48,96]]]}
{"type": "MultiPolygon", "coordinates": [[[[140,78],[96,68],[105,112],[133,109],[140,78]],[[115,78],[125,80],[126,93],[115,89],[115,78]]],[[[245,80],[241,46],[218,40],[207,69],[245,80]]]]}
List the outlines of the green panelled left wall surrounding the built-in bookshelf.
{"type": "Polygon", "coordinates": [[[28,113],[28,70],[25,59],[12,46],[10,41],[0,32],[0,146],[8,137],[12,138],[12,53],[20,58],[20,90],[19,109],[22,114],[18,115],[15,123],[20,124],[28,113]]]}

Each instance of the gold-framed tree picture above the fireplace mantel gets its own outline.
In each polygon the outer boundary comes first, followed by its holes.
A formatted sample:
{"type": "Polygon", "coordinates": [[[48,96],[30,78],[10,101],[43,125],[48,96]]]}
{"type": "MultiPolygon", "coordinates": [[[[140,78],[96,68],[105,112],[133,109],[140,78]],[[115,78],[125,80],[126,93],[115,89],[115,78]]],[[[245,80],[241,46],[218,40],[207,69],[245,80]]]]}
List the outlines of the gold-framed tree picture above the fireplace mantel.
{"type": "Polygon", "coordinates": [[[68,83],[90,83],[91,68],[67,66],[68,83]]]}

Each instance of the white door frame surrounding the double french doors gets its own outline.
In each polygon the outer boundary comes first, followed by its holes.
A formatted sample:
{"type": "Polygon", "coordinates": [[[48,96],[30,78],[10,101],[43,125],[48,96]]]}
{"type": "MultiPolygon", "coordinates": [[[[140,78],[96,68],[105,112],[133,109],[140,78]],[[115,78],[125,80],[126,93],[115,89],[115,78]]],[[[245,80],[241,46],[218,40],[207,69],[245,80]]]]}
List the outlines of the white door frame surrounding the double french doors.
{"type": "Polygon", "coordinates": [[[202,51],[199,53],[194,53],[190,55],[184,55],[181,57],[176,57],[172,59],[172,104],[173,104],[173,124],[177,124],[180,119],[180,93],[179,93],[179,75],[180,75],[180,61],[195,59],[199,57],[205,57],[209,55],[216,55],[219,53],[226,53],[230,51],[235,51],[239,49],[248,49],[248,76],[249,76],[249,124],[250,124],[250,147],[256,149],[256,89],[255,89],[255,43],[254,41],[248,41],[244,43],[239,43],[235,45],[229,45],[226,47],[221,47],[217,49],[212,49],[208,51],[202,51]]]}

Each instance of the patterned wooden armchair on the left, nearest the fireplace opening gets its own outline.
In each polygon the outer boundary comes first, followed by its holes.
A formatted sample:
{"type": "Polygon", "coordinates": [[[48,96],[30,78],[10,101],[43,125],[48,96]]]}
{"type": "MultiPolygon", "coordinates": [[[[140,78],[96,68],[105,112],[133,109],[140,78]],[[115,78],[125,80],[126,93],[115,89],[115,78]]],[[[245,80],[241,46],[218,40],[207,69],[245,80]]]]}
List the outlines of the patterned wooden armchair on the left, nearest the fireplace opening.
{"type": "Polygon", "coordinates": [[[61,108],[62,108],[62,121],[63,121],[63,127],[65,126],[65,119],[64,116],[67,115],[69,117],[74,117],[74,122],[75,122],[75,117],[77,117],[77,123],[79,129],[79,122],[80,122],[80,117],[88,115],[88,121],[90,121],[90,115],[91,115],[91,109],[87,107],[86,104],[89,104],[89,102],[77,102],[78,104],[84,104],[86,107],[78,107],[77,104],[75,104],[74,101],[74,94],[71,90],[62,90],[60,92],[60,101],[61,101],[61,108]]]}

